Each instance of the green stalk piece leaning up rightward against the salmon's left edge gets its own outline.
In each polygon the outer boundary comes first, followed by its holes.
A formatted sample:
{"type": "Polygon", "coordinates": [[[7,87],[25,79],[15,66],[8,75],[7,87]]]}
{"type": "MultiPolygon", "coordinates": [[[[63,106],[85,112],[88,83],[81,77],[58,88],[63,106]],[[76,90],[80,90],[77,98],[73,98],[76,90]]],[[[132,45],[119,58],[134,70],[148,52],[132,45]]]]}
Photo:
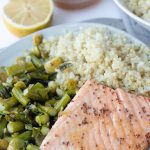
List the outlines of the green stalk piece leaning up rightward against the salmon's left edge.
{"type": "Polygon", "coordinates": [[[65,95],[62,97],[62,99],[59,100],[59,101],[56,103],[56,105],[55,105],[55,107],[54,107],[55,110],[57,111],[57,113],[58,113],[60,110],[64,109],[64,108],[67,106],[67,104],[70,102],[70,100],[71,100],[70,96],[69,96],[68,94],[65,94],[65,95]]]}

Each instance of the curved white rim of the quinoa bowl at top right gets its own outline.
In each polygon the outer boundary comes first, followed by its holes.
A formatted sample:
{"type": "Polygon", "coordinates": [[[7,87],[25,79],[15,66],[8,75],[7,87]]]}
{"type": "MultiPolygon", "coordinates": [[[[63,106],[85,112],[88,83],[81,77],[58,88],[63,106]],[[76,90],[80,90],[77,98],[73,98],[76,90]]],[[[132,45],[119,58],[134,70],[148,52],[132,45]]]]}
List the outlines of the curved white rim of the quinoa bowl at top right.
{"type": "Polygon", "coordinates": [[[122,9],[127,15],[129,15],[131,18],[137,20],[139,23],[142,23],[145,26],[150,27],[150,23],[144,19],[142,19],[141,17],[137,16],[136,14],[134,14],[132,11],[130,11],[127,7],[125,7],[121,0],[113,0],[120,9],[122,9]]]}

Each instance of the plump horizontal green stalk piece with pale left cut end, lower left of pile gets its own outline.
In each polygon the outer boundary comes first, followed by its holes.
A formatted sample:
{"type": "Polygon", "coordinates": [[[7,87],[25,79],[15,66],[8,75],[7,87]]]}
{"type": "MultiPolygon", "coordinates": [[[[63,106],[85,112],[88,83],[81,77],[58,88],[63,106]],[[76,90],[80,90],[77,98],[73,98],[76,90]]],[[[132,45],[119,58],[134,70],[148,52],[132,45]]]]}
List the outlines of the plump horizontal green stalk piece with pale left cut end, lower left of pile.
{"type": "Polygon", "coordinates": [[[9,133],[15,133],[19,131],[23,131],[25,129],[25,124],[23,122],[9,122],[7,125],[7,129],[9,133]]]}

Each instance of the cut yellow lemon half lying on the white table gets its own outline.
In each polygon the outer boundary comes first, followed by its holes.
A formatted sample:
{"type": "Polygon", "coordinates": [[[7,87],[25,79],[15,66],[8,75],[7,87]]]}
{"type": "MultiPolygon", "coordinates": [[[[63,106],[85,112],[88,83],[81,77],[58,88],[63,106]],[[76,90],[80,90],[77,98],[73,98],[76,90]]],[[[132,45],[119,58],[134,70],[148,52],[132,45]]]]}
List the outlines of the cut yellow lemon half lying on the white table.
{"type": "Polygon", "coordinates": [[[3,9],[8,29],[18,37],[51,25],[52,0],[10,0],[3,9]]]}

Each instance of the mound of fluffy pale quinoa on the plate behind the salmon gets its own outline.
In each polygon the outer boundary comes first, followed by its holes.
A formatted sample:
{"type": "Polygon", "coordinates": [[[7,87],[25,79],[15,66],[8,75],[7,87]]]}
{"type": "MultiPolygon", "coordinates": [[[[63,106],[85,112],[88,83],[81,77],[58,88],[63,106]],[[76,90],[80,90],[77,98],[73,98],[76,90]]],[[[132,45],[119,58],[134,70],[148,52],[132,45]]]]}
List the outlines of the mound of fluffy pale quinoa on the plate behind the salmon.
{"type": "Polygon", "coordinates": [[[150,96],[150,48],[136,44],[122,33],[91,27],[45,40],[40,49],[65,63],[57,69],[56,82],[67,88],[75,80],[80,88],[93,78],[112,88],[150,96]]]}

